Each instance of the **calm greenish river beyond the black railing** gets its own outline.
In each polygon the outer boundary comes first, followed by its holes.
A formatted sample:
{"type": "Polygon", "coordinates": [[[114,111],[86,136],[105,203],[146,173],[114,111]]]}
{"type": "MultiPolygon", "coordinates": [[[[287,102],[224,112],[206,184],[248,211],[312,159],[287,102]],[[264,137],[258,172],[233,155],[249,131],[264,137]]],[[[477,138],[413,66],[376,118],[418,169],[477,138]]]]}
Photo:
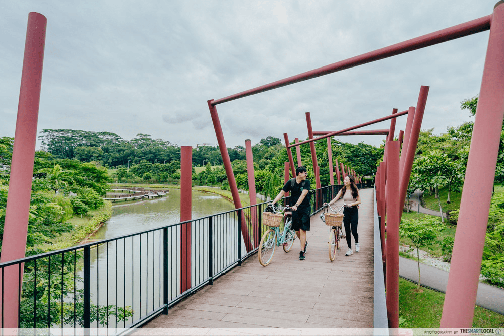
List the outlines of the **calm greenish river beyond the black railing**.
{"type": "MultiPolygon", "coordinates": [[[[210,193],[193,191],[192,218],[202,218],[229,210],[234,205],[227,199],[210,193]]],[[[153,230],[180,222],[180,190],[171,189],[163,197],[133,202],[119,202],[113,207],[112,217],[92,239],[110,239],[118,236],[153,230]]],[[[213,268],[219,270],[237,255],[238,236],[235,213],[214,218],[213,268]]],[[[191,279],[194,286],[209,277],[209,222],[191,224],[191,279]]],[[[94,304],[132,307],[133,318],[117,321],[110,317],[110,326],[127,326],[162,305],[162,230],[99,244],[91,249],[91,293],[94,304]]],[[[244,244],[242,244],[244,246],[244,244]]],[[[180,279],[180,226],[168,228],[168,298],[181,294],[180,279]]],[[[81,272],[80,276],[83,276],[81,272]]],[[[115,308],[114,308],[115,310],[115,308]]],[[[92,314],[93,315],[93,314],[92,314]]],[[[96,316],[96,315],[95,315],[96,316]]],[[[96,327],[96,322],[93,323],[96,327]]],[[[92,327],[93,327],[92,324],[92,327]]]]}

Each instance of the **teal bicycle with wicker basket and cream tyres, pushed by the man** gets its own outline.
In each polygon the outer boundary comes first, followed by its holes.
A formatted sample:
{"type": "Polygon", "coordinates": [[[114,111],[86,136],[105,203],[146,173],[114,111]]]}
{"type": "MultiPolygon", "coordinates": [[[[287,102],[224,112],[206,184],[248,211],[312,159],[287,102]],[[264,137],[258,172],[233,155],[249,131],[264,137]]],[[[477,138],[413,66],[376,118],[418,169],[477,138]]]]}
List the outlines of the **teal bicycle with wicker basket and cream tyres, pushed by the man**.
{"type": "Polygon", "coordinates": [[[292,219],[288,219],[287,222],[284,219],[284,216],[290,216],[289,210],[289,206],[282,208],[268,205],[263,213],[263,225],[268,227],[259,243],[259,263],[263,266],[271,262],[277,246],[282,245],[285,253],[292,249],[296,232],[291,229],[292,219]],[[283,230],[280,231],[282,224],[284,224],[283,230]]]}

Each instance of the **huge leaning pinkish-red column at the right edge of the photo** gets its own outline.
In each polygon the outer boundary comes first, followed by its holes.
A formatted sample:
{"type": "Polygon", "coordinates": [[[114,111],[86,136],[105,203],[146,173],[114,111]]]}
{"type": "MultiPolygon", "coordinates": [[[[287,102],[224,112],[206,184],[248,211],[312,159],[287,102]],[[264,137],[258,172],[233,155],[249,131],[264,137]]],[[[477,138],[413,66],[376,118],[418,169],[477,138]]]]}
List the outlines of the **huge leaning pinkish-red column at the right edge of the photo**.
{"type": "Polygon", "coordinates": [[[504,1],[495,5],[460,201],[443,328],[472,326],[504,116],[504,1]],[[474,200],[477,199],[477,206],[474,200]]]}

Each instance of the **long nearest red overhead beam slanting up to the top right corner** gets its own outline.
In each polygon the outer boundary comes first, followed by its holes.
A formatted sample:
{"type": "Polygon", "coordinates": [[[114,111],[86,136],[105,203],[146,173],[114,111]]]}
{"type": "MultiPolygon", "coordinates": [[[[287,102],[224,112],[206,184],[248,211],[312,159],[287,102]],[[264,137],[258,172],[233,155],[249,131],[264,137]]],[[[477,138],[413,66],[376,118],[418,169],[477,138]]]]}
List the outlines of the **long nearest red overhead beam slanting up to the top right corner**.
{"type": "Polygon", "coordinates": [[[222,104],[231,100],[251,96],[257,93],[281,88],[286,85],[306,81],[312,78],[332,74],[341,70],[350,69],[358,65],[374,62],[376,60],[385,59],[388,57],[400,55],[405,52],[418,50],[438,43],[451,41],[460,37],[480,33],[490,29],[491,15],[484,16],[479,19],[468,21],[453,27],[438,30],[436,32],[412,38],[391,46],[370,51],[359,56],[354,56],[336,63],[332,63],[321,68],[310,70],[298,75],[287,77],[285,79],[275,81],[269,84],[259,86],[254,89],[242,91],[231,96],[216,99],[212,101],[212,105],[222,104]]]}

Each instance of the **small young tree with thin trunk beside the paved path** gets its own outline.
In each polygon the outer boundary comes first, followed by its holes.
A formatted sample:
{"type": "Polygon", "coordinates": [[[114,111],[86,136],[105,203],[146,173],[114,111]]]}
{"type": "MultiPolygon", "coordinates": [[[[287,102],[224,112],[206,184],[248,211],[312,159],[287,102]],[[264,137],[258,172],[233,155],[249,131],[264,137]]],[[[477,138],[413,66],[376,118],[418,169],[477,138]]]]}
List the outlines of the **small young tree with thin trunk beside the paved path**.
{"type": "MultiPolygon", "coordinates": [[[[418,263],[418,287],[420,289],[420,248],[431,246],[444,227],[437,218],[422,217],[420,219],[403,219],[399,226],[399,235],[411,240],[416,248],[418,263]]],[[[412,251],[410,248],[408,252],[412,251]]]]}

